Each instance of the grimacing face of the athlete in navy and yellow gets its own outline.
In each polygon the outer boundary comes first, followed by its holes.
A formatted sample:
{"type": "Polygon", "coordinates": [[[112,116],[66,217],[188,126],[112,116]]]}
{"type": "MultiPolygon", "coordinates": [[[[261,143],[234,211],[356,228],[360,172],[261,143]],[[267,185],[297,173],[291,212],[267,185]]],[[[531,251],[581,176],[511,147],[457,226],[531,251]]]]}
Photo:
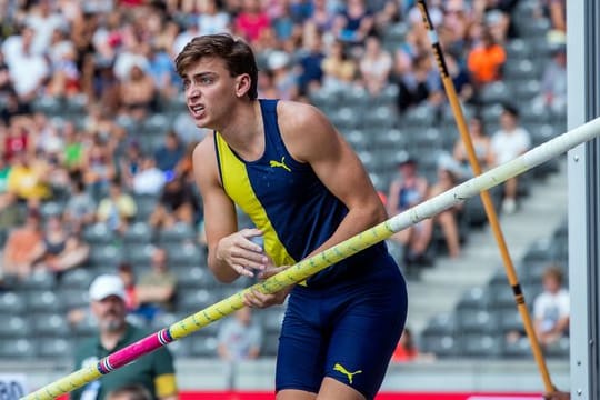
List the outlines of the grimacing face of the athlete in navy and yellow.
{"type": "Polygon", "coordinates": [[[231,77],[224,61],[218,58],[202,58],[192,64],[183,76],[183,89],[196,126],[220,129],[240,98],[246,78],[231,77]]]}

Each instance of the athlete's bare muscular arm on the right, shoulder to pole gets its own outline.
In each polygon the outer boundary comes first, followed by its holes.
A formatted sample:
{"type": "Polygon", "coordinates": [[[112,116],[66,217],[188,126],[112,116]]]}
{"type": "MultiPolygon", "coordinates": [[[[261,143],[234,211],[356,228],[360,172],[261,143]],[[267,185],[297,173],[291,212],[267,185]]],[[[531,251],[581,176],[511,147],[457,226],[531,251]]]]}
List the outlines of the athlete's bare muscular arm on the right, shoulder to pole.
{"type": "Polygon", "coordinates": [[[322,183],[348,208],[338,229],[312,254],[386,220],[386,209],[359,158],[320,111],[281,101],[278,116],[290,153],[310,163],[322,183]]]}

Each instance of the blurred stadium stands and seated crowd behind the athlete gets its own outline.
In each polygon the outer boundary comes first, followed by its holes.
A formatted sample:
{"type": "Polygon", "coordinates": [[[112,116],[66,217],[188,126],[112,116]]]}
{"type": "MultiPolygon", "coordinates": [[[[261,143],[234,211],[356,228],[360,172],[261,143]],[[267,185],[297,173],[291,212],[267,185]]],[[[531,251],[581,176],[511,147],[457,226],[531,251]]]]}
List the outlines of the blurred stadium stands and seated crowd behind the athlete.
{"type": "MultiPolygon", "coordinates": [[[[71,370],[76,344],[97,333],[88,288],[100,273],[122,277],[130,321],[150,330],[252,283],[221,284],[206,264],[190,157],[209,132],[188,117],[172,62],[196,36],[250,42],[259,96],[319,107],[390,214],[469,179],[414,3],[0,0],[0,374],[26,373],[34,389],[71,370]]],[[[531,148],[566,130],[564,0],[428,7],[483,169],[511,157],[502,133],[531,148]]],[[[491,194],[554,383],[567,387],[568,324],[551,337],[544,327],[568,314],[537,301],[568,290],[564,160],[491,194]]],[[[239,224],[251,222],[240,212],[239,224]]],[[[542,390],[479,198],[388,246],[410,306],[383,391],[542,390]]],[[[234,362],[223,322],[169,346],[180,388],[272,390],[283,311],[246,317],[260,342],[234,362]]]]}

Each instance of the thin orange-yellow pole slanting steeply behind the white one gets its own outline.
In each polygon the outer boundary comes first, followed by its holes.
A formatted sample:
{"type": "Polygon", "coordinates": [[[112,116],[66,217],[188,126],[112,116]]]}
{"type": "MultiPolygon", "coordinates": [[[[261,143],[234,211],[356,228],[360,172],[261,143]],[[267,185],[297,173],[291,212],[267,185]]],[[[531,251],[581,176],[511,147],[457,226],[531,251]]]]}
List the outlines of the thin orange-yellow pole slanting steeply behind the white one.
{"type": "MultiPolygon", "coordinates": [[[[419,7],[419,10],[421,11],[423,23],[429,30],[429,38],[431,40],[433,54],[436,56],[438,69],[440,70],[443,87],[446,89],[448,100],[450,101],[450,107],[452,108],[452,113],[454,114],[454,119],[457,121],[460,137],[462,139],[462,142],[464,143],[464,148],[467,149],[469,163],[471,164],[471,168],[473,169],[474,176],[476,177],[480,176],[481,167],[479,166],[479,161],[477,159],[476,151],[473,148],[473,142],[471,140],[469,130],[467,128],[467,123],[464,121],[464,114],[462,112],[462,108],[458,100],[457,91],[454,89],[454,83],[452,82],[452,79],[450,78],[450,73],[448,73],[446,60],[441,51],[440,42],[438,41],[438,36],[436,33],[436,30],[433,29],[431,18],[429,17],[427,3],[424,0],[418,0],[417,4],[419,7]]],[[[524,296],[521,290],[521,284],[519,283],[517,272],[514,271],[514,266],[512,263],[512,259],[510,257],[507,242],[504,240],[504,236],[502,234],[500,222],[498,221],[498,214],[496,213],[496,209],[493,208],[490,193],[487,190],[484,190],[480,193],[480,196],[481,196],[481,201],[483,202],[486,214],[488,216],[488,220],[490,221],[490,227],[492,229],[493,237],[496,238],[496,242],[498,243],[498,249],[500,250],[500,256],[504,264],[508,280],[512,288],[512,292],[514,293],[514,301],[517,302],[517,309],[519,310],[519,313],[521,314],[521,319],[523,320],[524,330],[526,330],[527,337],[529,338],[529,342],[531,344],[533,358],[536,359],[536,362],[538,363],[538,368],[540,370],[540,373],[543,380],[544,389],[547,392],[552,391],[554,389],[554,386],[552,384],[552,381],[550,380],[550,373],[548,372],[548,367],[546,366],[546,361],[544,361],[543,353],[540,348],[540,343],[538,342],[538,338],[536,337],[536,332],[533,330],[533,323],[531,322],[531,316],[529,314],[524,296]]]]}

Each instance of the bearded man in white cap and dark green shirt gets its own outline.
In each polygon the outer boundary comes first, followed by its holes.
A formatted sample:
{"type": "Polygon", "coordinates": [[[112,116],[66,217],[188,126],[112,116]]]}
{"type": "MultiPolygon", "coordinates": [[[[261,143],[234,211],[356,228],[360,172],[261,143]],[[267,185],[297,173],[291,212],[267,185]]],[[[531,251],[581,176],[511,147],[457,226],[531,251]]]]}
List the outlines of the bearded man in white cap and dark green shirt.
{"type": "MultiPolygon", "coordinates": [[[[98,320],[98,337],[86,340],[76,351],[74,368],[96,364],[102,358],[133,343],[148,332],[126,321],[126,290],[116,274],[97,277],[90,286],[90,308],[98,320]]],[[[104,399],[107,393],[122,386],[138,383],[150,391],[153,399],[178,398],[173,359],[167,348],[141,357],[117,371],[71,393],[72,400],[104,399]]]]}

